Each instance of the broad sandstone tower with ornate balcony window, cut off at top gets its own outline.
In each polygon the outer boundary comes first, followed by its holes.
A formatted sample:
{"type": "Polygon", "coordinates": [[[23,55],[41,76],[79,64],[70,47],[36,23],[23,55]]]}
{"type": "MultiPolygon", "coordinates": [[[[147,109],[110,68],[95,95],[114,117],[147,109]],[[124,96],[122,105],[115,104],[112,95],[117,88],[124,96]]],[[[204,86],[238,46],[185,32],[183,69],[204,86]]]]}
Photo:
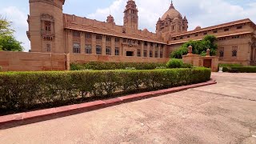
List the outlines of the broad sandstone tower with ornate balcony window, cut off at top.
{"type": "Polygon", "coordinates": [[[30,0],[31,52],[64,53],[62,6],[65,0],[30,0]]]}

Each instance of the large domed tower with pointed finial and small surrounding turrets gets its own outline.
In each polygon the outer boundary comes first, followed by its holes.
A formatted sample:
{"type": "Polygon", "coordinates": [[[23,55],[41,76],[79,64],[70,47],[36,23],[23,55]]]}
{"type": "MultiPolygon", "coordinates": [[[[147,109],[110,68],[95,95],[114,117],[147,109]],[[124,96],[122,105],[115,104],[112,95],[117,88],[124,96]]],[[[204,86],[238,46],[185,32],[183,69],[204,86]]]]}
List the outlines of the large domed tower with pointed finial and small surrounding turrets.
{"type": "Polygon", "coordinates": [[[171,1],[169,10],[158,19],[156,25],[157,34],[178,34],[187,31],[188,21],[186,17],[182,18],[182,14],[175,9],[171,1]]]}

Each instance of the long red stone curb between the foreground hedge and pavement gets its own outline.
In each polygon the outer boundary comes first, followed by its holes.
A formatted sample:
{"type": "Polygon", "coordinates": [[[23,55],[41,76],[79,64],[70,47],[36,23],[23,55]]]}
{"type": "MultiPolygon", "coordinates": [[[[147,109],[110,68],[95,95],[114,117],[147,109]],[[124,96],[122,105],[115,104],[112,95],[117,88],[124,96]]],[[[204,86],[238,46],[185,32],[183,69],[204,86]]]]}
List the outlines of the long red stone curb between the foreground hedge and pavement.
{"type": "Polygon", "coordinates": [[[86,102],[82,104],[61,106],[46,110],[36,110],[20,114],[10,114],[0,117],[0,130],[7,129],[14,126],[21,126],[35,122],[42,122],[54,118],[62,118],[68,115],[80,114],[91,110],[99,110],[109,106],[116,106],[126,102],[134,102],[145,98],[157,97],[163,94],[171,94],[182,90],[188,90],[200,86],[214,85],[217,82],[211,79],[208,82],[198,84],[179,86],[166,90],[157,90],[140,94],[131,94],[118,98],[111,98],[106,100],[99,100],[94,102],[86,102]]]}

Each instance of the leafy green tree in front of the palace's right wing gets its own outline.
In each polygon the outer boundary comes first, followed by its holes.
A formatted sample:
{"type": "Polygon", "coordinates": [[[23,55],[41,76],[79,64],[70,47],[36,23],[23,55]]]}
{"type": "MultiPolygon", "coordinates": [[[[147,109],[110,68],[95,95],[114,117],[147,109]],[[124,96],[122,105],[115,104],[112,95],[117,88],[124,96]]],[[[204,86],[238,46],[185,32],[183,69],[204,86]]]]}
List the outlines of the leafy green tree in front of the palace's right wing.
{"type": "Polygon", "coordinates": [[[206,35],[201,41],[190,41],[184,43],[180,48],[174,50],[170,54],[170,58],[182,58],[182,55],[188,53],[188,46],[193,46],[193,54],[200,54],[202,56],[206,55],[206,50],[210,49],[210,55],[216,55],[218,49],[217,44],[215,43],[217,38],[214,35],[206,35]]]}

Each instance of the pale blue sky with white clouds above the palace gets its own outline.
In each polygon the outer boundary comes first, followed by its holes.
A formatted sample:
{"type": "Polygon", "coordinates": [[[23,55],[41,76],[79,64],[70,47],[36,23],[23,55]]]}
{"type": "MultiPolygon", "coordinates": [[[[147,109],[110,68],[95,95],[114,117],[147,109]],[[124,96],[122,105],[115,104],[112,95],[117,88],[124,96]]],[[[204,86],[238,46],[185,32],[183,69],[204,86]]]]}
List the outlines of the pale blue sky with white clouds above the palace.
{"type": "MultiPolygon", "coordinates": [[[[106,21],[111,14],[122,25],[123,10],[128,0],[66,0],[63,13],[106,21]]],[[[250,18],[256,22],[256,0],[173,0],[175,9],[189,22],[189,30],[196,26],[214,26],[224,22],[250,18]]],[[[30,50],[26,37],[29,0],[0,0],[0,14],[12,22],[14,36],[22,42],[25,51],[30,50]]],[[[135,0],[138,6],[139,29],[155,31],[158,18],[168,10],[170,0],[135,0]]]]}

